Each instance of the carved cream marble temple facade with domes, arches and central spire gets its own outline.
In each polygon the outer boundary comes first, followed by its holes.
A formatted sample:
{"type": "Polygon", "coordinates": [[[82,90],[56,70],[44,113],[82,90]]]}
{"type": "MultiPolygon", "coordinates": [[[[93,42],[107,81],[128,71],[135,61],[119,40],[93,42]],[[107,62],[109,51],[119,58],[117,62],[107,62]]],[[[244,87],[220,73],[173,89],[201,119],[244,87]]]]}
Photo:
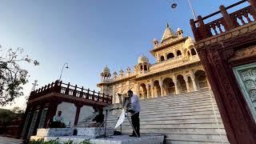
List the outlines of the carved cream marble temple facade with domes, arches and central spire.
{"type": "Polygon", "coordinates": [[[101,92],[113,95],[116,103],[117,94],[126,94],[128,90],[133,90],[140,98],[156,98],[210,86],[192,38],[184,37],[181,29],[174,33],[167,24],[161,42],[154,38],[154,49],[150,53],[156,62],[151,64],[142,55],[134,71],[128,67],[126,73],[120,70],[119,74],[110,74],[106,66],[102,70],[102,82],[97,85],[101,92]]]}

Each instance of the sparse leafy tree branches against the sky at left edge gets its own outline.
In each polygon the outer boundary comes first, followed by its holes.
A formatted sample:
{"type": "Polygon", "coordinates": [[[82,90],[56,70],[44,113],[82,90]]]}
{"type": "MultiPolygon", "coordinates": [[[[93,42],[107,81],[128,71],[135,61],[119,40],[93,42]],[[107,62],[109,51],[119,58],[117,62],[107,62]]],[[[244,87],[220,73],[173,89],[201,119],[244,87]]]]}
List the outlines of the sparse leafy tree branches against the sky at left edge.
{"type": "Polygon", "coordinates": [[[34,66],[39,62],[24,55],[20,47],[12,50],[0,46],[0,54],[0,105],[6,106],[23,95],[22,86],[28,82],[28,71],[22,68],[22,62],[34,66]]]}

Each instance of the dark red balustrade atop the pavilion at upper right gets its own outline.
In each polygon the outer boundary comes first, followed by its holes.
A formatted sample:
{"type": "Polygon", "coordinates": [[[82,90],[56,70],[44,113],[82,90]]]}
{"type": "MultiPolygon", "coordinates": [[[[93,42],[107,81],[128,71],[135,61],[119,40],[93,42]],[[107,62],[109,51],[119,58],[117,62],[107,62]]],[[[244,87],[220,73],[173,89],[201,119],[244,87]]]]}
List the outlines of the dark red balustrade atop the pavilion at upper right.
{"type": "Polygon", "coordinates": [[[205,38],[210,38],[212,36],[222,34],[238,26],[243,26],[256,20],[256,2],[254,0],[242,0],[227,7],[220,6],[219,9],[220,10],[217,12],[207,15],[204,18],[199,15],[198,20],[196,21],[194,21],[194,19],[190,19],[190,26],[196,42],[205,38]],[[250,6],[245,6],[240,10],[236,10],[228,14],[227,10],[247,1],[250,2],[250,6]],[[204,23],[206,18],[210,18],[216,14],[222,14],[222,17],[216,18],[215,20],[206,24],[204,23]]]}

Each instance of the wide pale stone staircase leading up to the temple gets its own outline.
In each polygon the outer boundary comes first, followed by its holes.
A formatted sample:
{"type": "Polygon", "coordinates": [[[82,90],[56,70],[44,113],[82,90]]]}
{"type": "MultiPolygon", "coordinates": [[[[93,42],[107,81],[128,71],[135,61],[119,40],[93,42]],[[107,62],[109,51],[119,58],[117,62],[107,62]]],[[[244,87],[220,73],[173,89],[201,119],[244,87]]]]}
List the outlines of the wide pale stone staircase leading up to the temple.
{"type": "MultiPolygon", "coordinates": [[[[141,134],[165,134],[166,143],[229,143],[212,90],[141,100],[141,134]]],[[[115,126],[121,110],[108,114],[107,126],[115,126]]],[[[129,122],[116,130],[131,134],[129,122]]]]}

